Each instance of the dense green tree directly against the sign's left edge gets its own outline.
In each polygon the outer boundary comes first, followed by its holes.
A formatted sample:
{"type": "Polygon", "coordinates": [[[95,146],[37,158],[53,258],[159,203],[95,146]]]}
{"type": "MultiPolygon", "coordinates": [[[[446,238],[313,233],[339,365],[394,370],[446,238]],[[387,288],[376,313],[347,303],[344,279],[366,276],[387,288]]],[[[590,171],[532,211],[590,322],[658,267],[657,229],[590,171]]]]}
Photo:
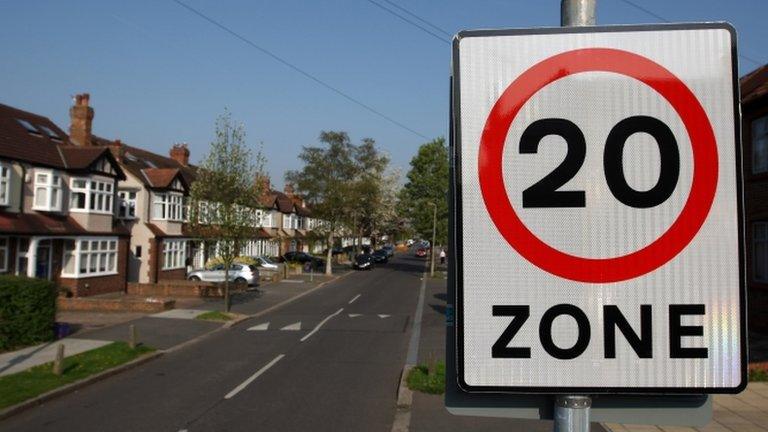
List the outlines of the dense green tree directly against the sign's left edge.
{"type": "Polygon", "coordinates": [[[399,210],[421,238],[432,237],[433,205],[437,206],[436,243],[448,241],[448,147],[444,138],[419,147],[411,159],[408,181],[400,192],[399,210]]]}

